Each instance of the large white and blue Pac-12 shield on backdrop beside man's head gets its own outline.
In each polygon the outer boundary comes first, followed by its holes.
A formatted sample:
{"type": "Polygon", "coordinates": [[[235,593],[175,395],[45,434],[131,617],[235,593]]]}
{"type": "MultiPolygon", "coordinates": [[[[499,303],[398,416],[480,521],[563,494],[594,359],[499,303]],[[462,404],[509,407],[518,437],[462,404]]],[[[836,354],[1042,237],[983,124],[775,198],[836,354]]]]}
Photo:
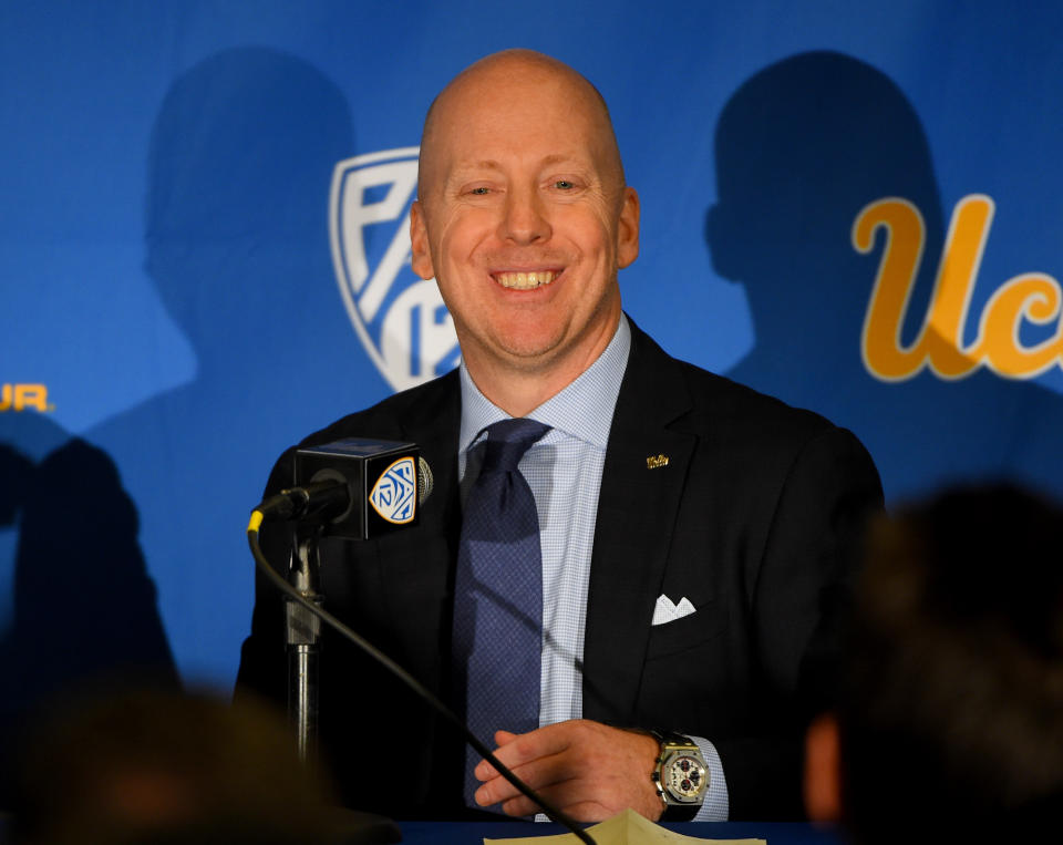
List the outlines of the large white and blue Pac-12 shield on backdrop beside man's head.
{"type": "Polygon", "coordinates": [[[393,390],[454,369],[454,321],[434,280],[410,267],[417,147],[336,165],[329,197],[332,262],[354,330],[393,390]]]}

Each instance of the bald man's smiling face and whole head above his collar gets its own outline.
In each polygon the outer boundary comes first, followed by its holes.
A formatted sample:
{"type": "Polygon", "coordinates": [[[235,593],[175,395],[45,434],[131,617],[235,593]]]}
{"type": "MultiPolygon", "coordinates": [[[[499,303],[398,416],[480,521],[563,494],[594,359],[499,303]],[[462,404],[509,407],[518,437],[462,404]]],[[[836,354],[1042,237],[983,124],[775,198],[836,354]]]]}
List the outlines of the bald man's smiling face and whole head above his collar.
{"type": "Polygon", "coordinates": [[[413,269],[437,280],[477,385],[494,399],[486,384],[532,373],[553,395],[612,339],[638,255],[597,92],[546,56],[489,56],[433,106],[420,179],[413,269]]]}

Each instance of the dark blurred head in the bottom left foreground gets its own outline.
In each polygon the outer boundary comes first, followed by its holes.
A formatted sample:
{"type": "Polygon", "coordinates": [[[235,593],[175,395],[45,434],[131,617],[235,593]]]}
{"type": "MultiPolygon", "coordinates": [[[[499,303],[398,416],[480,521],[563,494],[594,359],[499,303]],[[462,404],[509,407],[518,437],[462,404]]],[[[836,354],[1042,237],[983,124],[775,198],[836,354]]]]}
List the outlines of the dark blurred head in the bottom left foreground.
{"type": "Polygon", "coordinates": [[[25,748],[18,843],[398,841],[390,823],[336,810],[283,721],[254,702],[86,700],[43,719],[25,748]]]}

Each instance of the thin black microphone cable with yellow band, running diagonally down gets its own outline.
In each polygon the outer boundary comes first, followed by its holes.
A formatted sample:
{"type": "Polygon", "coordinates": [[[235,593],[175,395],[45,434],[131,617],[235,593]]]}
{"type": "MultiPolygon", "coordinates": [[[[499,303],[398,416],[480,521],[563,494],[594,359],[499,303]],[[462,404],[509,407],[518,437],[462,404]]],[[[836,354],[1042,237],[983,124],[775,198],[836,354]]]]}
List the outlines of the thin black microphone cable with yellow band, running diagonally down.
{"type": "Polygon", "coordinates": [[[498,759],[492,753],[484,743],[482,743],[476,735],[468,730],[466,724],[458,719],[454,712],[438,698],[435,697],[424,684],[422,684],[416,678],[410,674],[405,669],[403,669],[399,663],[388,657],[385,653],[376,649],[369,640],[364,639],[360,635],[355,633],[348,626],[332,616],[328,610],[318,607],[312,601],[309,601],[306,597],[299,594],[295,587],[292,587],[286,579],[280,577],[280,575],[270,566],[269,560],[266,559],[266,555],[262,554],[261,546],[258,542],[258,532],[262,525],[262,512],[255,509],[251,512],[251,519],[247,525],[247,542],[251,547],[251,556],[255,558],[259,571],[265,575],[270,584],[276,586],[281,592],[286,596],[298,601],[302,607],[307,608],[311,614],[321,619],[326,625],[331,627],[333,630],[338,631],[350,642],[354,643],[358,648],[364,651],[369,657],[375,660],[378,663],[383,666],[388,671],[394,674],[399,680],[406,684],[414,694],[421,698],[422,701],[426,702],[429,705],[435,710],[436,713],[443,717],[443,719],[450,722],[462,735],[465,736],[465,741],[473,746],[473,750],[476,751],[482,758],[487,760],[503,777],[505,777],[510,784],[513,784],[522,795],[532,800],[541,807],[543,812],[551,822],[566,827],[568,831],[574,833],[580,842],[587,843],[587,845],[595,845],[594,838],[581,827],[577,826],[576,822],[568,817],[560,810],[555,807],[553,804],[548,803],[545,798],[536,794],[536,792],[524,783],[519,777],[517,777],[509,769],[503,765],[498,759]]]}

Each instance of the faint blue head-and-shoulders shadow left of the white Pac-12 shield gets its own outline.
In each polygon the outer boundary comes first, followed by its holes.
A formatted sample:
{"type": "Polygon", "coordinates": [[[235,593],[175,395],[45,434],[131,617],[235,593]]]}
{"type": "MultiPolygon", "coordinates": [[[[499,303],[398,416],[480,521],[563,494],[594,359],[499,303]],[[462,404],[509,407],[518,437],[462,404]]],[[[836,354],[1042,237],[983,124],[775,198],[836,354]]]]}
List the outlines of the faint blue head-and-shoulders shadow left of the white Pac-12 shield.
{"type": "Polygon", "coordinates": [[[137,503],[186,678],[233,682],[252,600],[248,514],[277,455],[349,410],[359,387],[327,218],[332,168],[352,145],[336,84],[267,48],[193,66],[154,124],[146,269],[197,372],[87,436],[114,454],[137,503]]]}

